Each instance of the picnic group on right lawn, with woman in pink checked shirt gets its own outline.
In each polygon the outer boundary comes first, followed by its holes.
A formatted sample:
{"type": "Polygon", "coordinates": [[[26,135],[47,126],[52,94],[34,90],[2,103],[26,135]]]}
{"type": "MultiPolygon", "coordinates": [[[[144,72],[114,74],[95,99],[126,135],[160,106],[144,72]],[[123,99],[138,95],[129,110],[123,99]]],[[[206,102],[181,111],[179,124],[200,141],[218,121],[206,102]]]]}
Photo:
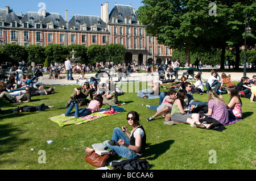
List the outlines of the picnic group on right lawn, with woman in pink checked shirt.
{"type": "Polygon", "coordinates": [[[159,105],[149,106],[147,108],[157,111],[155,115],[148,117],[147,121],[152,121],[157,116],[164,116],[164,124],[172,125],[174,123],[190,124],[192,127],[210,129],[214,123],[200,123],[200,113],[192,113],[191,107],[207,107],[207,113],[204,115],[217,120],[222,125],[228,125],[231,120],[242,118],[242,102],[235,86],[228,88],[230,95],[229,103],[226,104],[222,99],[222,95],[218,97],[216,91],[209,90],[208,102],[200,102],[193,98],[192,85],[187,82],[185,89],[169,90],[168,92],[160,92],[159,105]],[[191,108],[191,110],[189,110],[191,108]]]}

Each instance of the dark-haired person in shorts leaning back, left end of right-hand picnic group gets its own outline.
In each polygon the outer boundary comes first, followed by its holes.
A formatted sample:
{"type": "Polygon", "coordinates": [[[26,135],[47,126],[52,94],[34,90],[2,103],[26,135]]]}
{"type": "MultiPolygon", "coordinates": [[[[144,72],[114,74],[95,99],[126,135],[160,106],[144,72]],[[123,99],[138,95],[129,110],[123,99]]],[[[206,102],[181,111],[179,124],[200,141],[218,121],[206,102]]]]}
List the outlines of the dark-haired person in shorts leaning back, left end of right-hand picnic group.
{"type": "MultiPolygon", "coordinates": [[[[155,115],[148,117],[147,121],[152,121],[155,119],[155,117],[163,115],[164,116],[164,124],[172,125],[174,124],[174,121],[171,121],[170,119],[170,113],[172,111],[172,104],[174,103],[174,100],[176,98],[176,90],[169,90],[167,92],[167,95],[165,96],[162,104],[157,108],[157,111],[155,115]]],[[[148,105],[146,105],[148,107],[148,105]]]]}

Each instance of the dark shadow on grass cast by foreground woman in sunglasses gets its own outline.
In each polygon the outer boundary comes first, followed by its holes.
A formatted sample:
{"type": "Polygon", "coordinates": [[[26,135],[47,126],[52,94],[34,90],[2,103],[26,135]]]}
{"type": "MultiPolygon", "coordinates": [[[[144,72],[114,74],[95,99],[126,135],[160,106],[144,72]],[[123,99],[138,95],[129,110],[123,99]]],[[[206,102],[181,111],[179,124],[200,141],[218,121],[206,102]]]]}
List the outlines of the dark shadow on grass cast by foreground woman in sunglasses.
{"type": "Polygon", "coordinates": [[[145,157],[148,160],[155,160],[163,153],[166,153],[166,151],[170,149],[170,146],[173,143],[174,140],[167,140],[155,145],[147,144],[147,149],[144,151],[143,157],[145,157]]]}

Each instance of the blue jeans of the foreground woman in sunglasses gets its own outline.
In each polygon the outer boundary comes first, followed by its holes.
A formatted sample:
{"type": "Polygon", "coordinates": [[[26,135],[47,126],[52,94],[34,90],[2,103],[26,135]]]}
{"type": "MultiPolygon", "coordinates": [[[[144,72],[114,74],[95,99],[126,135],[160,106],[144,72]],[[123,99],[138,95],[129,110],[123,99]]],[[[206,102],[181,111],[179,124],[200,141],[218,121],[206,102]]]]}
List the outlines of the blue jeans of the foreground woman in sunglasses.
{"type": "MultiPolygon", "coordinates": [[[[125,133],[122,132],[122,130],[120,128],[114,128],[113,134],[112,134],[112,140],[114,140],[115,142],[117,142],[119,139],[123,139],[125,140],[125,142],[127,144],[130,144],[130,140],[129,138],[126,136],[125,133]]],[[[106,140],[102,143],[102,145],[106,146],[106,149],[110,149],[115,151],[115,153],[117,153],[120,157],[122,158],[126,158],[126,159],[133,159],[133,158],[137,158],[137,154],[134,151],[131,151],[129,148],[127,148],[126,146],[123,145],[109,145],[108,144],[109,140],[106,140]]]]}

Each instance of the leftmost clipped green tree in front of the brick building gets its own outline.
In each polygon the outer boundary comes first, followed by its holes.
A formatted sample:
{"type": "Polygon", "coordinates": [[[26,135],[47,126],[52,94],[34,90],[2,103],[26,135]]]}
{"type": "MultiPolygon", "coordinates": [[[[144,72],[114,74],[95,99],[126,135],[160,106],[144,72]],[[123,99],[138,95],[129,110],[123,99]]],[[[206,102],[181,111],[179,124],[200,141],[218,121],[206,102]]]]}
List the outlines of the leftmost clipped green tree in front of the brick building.
{"type": "Polygon", "coordinates": [[[25,47],[17,45],[17,44],[5,44],[2,49],[2,53],[10,62],[26,62],[27,61],[27,51],[25,47]]]}

